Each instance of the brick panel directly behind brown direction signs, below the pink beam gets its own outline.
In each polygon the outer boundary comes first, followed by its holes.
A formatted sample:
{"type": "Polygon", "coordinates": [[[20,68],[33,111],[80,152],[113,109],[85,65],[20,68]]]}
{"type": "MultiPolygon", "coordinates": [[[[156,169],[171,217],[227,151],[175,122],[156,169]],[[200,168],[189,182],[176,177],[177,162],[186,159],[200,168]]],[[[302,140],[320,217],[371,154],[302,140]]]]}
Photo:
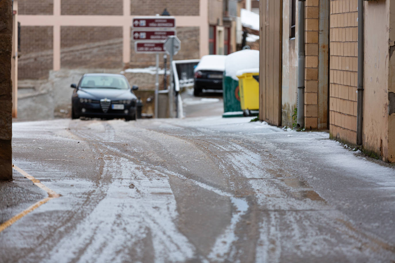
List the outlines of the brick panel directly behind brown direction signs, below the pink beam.
{"type": "MultiPolygon", "coordinates": [[[[178,27],[177,37],[181,41],[181,50],[174,56],[174,60],[199,59],[199,28],[198,27],[178,27]]],[[[134,41],[130,41],[130,68],[144,68],[155,65],[154,54],[136,54],[134,52],[134,41]]],[[[160,56],[161,65],[163,55],[160,56]]]]}

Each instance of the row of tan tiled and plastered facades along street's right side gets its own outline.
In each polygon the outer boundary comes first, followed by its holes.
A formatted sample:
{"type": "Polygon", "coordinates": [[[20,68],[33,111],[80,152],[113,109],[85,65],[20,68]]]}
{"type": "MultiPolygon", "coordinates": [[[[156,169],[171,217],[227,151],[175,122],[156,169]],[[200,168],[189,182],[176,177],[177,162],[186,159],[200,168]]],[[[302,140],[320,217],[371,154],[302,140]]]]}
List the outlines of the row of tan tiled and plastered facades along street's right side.
{"type": "MultiPolygon", "coordinates": [[[[260,119],[290,127],[301,114],[296,112],[298,2],[260,1],[261,36],[265,36],[260,43],[260,119]]],[[[392,2],[305,1],[301,107],[305,129],[329,129],[331,138],[361,145],[365,152],[389,162],[395,162],[392,2]],[[363,10],[363,52],[358,52],[358,5],[363,10]],[[358,61],[363,70],[358,70],[358,61]],[[358,74],[363,76],[360,87],[358,74]],[[358,92],[363,94],[359,101],[358,92]]]]}

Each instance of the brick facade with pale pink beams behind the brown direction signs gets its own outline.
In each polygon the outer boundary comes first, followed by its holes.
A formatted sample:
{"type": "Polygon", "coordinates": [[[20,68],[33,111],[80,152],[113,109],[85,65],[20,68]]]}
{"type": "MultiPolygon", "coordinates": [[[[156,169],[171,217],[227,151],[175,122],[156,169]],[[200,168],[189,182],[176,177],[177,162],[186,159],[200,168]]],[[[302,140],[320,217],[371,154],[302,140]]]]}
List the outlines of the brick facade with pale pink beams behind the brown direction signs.
{"type": "Polygon", "coordinates": [[[185,44],[178,59],[208,54],[208,0],[19,0],[19,78],[45,78],[61,68],[150,64],[154,59],[134,53],[132,19],[165,8],[176,17],[177,36],[185,44]]]}

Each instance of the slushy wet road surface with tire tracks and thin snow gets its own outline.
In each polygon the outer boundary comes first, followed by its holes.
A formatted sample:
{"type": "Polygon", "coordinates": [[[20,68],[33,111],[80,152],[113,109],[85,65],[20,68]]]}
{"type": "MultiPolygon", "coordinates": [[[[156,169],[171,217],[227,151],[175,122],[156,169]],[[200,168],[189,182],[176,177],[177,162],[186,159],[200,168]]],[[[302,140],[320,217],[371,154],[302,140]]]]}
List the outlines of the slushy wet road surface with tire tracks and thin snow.
{"type": "MultiPolygon", "coordinates": [[[[13,163],[60,197],[0,232],[0,261],[395,260],[393,168],[183,99],[184,119],[14,123],[13,163]]],[[[47,197],[17,171],[0,193],[0,223],[47,197]]]]}

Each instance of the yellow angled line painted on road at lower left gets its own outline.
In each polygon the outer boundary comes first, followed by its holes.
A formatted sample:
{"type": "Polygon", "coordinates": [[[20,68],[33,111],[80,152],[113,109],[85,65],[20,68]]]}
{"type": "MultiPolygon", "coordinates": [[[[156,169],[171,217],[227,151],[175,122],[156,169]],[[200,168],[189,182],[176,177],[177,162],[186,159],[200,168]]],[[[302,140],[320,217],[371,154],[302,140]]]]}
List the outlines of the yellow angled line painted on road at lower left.
{"type": "Polygon", "coordinates": [[[58,198],[60,196],[55,191],[53,191],[53,190],[49,189],[48,187],[46,187],[45,185],[43,185],[40,182],[40,180],[38,180],[38,179],[34,178],[32,175],[26,173],[24,170],[22,170],[18,166],[13,165],[12,167],[15,170],[17,170],[19,173],[21,173],[24,177],[26,177],[27,179],[31,180],[35,185],[37,185],[38,187],[43,189],[45,192],[47,192],[48,197],[44,198],[43,200],[38,201],[37,203],[35,203],[33,205],[31,205],[30,207],[28,207],[27,209],[25,209],[24,211],[22,211],[18,215],[13,216],[11,219],[9,219],[6,222],[4,222],[3,224],[1,224],[0,225],[0,232],[2,232],[4,229],[8,228],[9,226],[14,224],[15,222],[17,222],[23,216],[25,216],[28,213],[32,212],[34,209],[36,209],[36,208],[40,207],[41,205],[47,203],[49,200],[54,199],[54,198],[58,198]]]}

